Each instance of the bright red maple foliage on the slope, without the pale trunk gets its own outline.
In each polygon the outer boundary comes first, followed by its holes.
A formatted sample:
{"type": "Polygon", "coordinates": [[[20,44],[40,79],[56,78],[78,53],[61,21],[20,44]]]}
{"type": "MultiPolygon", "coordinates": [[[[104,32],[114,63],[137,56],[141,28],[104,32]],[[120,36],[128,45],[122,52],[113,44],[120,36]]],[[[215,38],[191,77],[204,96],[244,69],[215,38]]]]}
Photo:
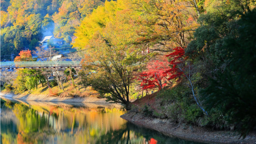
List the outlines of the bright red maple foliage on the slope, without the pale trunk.
{"type": "Polygon", "coordinates": [[[138,79],[141,80],[142,89],[154,89],[155,87],[162,89],[168,80],[178,81],[184,76],[184,48],[176,47],[173,50],[174,52],[166,55],[166,58],[171,61],[151,61],[148,63],[147,71],[139,74],[138,79]]]}

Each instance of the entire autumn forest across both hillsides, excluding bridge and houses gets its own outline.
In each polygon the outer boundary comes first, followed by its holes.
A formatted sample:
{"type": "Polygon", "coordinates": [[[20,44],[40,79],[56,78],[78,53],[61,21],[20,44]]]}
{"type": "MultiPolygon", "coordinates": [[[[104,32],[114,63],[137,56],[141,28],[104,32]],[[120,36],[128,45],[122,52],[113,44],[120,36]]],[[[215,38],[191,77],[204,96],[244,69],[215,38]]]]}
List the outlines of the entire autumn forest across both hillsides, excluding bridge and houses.
{"type": "Polygon", "coordinates": [[[81,61],[81,68],[61,72],[1,74],[1,87],[23,93],[41,84],[56,96],[89,91],[147,117],[245,138],[256,128],[255,6],[255,0],[1,0],[1,61],[58,54],[41,48],[49,35],[74,50],[66,58],[81,61]],[[149,95],[154,106],[133,104],[149,95]]]}

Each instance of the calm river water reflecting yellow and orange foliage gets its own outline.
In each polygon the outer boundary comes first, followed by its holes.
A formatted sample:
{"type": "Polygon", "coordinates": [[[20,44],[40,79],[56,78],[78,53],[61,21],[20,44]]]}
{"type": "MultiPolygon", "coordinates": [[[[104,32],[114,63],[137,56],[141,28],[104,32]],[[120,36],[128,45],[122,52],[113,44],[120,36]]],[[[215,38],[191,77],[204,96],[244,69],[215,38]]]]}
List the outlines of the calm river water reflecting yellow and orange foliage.
{"type": "Polygon", "coordinates": [[[119,105],[1,99],[1,144],[199,144],[120,118],[119,105]]]}

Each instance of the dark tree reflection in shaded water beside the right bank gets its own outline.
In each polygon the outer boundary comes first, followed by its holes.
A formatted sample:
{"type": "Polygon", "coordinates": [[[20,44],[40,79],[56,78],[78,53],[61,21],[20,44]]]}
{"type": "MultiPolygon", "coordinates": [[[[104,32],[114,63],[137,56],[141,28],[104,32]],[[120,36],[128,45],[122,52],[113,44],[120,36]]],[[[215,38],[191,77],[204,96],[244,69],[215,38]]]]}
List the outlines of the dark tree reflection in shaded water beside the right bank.
{"type": "Polygon", "coordinates": [[[102,135],[97,144],[200,144],[167,137],[159,132],[149,130],[130,122],[125,123],[119,130],[110,130],[102,135]]]}

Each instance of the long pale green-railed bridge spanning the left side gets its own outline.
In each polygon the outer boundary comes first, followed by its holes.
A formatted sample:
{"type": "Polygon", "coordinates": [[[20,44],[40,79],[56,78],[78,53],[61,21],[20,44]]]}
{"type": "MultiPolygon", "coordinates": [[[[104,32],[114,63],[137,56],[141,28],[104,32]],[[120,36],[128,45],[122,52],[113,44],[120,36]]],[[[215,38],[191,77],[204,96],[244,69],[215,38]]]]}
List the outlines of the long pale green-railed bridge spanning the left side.
{"type": "Polygon", "coordinates": [[[1,69],[81,67],[80,61],[19,61],[0,62],[1,69]]]}

